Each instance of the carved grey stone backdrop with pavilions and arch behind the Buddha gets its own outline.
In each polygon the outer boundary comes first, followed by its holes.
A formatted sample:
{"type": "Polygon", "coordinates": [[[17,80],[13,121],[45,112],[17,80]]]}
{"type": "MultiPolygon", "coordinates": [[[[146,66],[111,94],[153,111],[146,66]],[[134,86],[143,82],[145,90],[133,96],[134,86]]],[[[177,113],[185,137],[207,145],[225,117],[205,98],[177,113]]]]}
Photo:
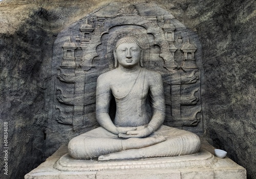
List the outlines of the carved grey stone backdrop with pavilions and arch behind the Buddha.
{"type": "MultiPolygon", "coordinates": [[[[53,70],[58,71],[53,118],[59,123],[73,125],[74,130],[95,125],[97,77],[114,69],[115,42],[131,35],[142,44],[143,67],[162,75],[164,124],[202,131],[201,72],[197,65],[201,57],[197,46],[201,46],[197,36],[167,12],[140,13],[141,6],[145,5],[125,5],[121,9],[113,5],[115,16],[100,16],[107,13],[103,8],[58,35],[53,58],[53,70]]],[[[114,116],[114,109],[111,113],[114,116]]]]}

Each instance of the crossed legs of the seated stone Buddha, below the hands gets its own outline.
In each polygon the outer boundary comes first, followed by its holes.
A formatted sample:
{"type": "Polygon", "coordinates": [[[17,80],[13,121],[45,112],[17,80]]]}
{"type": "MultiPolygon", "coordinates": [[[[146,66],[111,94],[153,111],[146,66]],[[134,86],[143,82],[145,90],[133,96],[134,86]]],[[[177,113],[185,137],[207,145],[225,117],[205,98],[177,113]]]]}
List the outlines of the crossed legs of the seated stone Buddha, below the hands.
{"type": "Polygon", "coordinates": [[[97,158],[99,161],[170,157],[194,154],[200,148],[197,135],[162,125],[147,138],[120,139],[98,127],[69,142],[69,153],[75,159],[97,158]]]}

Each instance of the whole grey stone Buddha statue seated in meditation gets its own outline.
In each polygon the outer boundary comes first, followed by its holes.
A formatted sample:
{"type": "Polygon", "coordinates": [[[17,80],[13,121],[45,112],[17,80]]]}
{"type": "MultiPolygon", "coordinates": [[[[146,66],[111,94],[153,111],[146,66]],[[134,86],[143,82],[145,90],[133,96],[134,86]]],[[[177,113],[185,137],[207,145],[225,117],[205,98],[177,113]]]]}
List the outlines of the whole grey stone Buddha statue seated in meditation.
{"type": "Polygon", "coordinates": [[[190,155],[200,148],[200,138],[163,125],[165,101],[161,75],[140,66],[140,43],[126,36],[117,41],[117,68],[97,79],[96,119],[100,127],[73,138],[68,145],[74,159],[98,161],[190,155]],[[152,114],[146,111],[150,96],[152,114]],[[116,114],[109,115],[112,96],[116,114]]]}

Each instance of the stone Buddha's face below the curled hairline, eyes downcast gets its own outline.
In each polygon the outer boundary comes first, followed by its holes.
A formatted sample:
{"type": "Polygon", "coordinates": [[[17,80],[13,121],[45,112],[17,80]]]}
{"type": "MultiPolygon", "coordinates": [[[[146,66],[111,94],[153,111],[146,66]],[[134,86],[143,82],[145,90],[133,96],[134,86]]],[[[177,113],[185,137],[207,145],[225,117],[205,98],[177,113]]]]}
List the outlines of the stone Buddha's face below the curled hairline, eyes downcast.
{"type": "Polygon", "coordinates": [[[119,65],[131,68],[139,64],[141,49],[136,43],[122,43],[116,50],[114,56],[118,60],[119,65]]]}

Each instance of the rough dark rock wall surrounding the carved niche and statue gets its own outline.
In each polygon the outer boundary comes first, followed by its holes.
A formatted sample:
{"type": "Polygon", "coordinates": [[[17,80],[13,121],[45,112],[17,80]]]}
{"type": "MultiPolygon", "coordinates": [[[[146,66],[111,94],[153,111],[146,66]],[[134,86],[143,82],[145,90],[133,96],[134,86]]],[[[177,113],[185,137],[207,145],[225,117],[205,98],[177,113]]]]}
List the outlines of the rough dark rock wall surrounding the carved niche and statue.
{"type": "MultiPolygon", "coordinates": [[[[71,127],[52,129],[49,121],[53,43],[62,29],[110,2],[0,2],[1,136],[3,122],[9,123],[9,171],[3,174],[2,153],[1,178],[24,178],[68,141],[57,136],[65,136],[71,127]]],[[[248,178],[256,178],[255,1],[133,2],[155,3],[198,34],[205,137],[245,167],[248,178]]]]}

